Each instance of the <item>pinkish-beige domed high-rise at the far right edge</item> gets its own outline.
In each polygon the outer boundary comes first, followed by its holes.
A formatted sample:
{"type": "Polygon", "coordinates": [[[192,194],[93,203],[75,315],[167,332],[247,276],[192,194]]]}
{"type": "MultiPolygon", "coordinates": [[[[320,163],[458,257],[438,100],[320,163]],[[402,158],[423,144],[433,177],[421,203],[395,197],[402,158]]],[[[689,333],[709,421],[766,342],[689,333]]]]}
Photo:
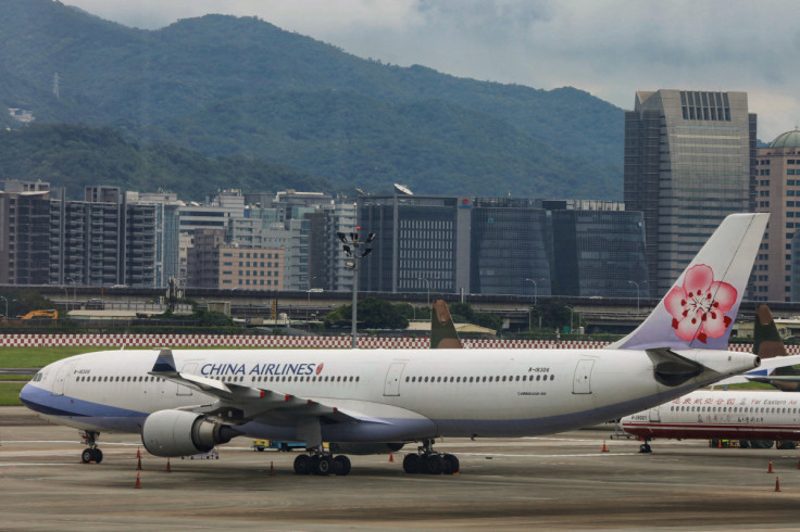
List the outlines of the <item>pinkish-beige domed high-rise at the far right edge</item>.
{"type": "Polygon", "coordinates": [[[753,299],[792,301],[792,238],[800,228],[800,131],[778,135],[759,148],[755,211],[770,213],[770,224],[755,257],[753,299]]]}

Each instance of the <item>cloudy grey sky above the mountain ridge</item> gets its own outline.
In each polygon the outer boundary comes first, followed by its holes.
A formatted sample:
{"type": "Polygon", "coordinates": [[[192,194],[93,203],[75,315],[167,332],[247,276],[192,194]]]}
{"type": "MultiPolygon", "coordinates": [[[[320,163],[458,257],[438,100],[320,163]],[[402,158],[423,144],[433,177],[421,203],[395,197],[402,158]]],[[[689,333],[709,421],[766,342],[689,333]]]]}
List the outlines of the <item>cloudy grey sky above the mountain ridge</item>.
{"type": "Polygon", "coordinates": [[[800,124],[797,0],[62,0],[158,29],[258,16],[361,58],[536,89],[571,86],[625,110],[637,90],[748,93],[758,136],[800,124]]]}

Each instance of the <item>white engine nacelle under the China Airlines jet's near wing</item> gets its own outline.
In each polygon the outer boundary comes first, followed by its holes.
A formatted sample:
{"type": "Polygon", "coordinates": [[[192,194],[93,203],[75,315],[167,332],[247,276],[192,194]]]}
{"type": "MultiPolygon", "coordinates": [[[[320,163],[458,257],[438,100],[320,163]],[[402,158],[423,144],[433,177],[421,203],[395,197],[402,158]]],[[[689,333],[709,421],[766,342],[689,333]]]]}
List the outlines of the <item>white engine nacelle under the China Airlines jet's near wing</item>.
{"type": "Polygon", "coordinates": [[[236,429],[209,421],[199,414],[159,410],[145,420],[141,443],[155,456],[188,456],[208,453],[238,434],[236,429]]]}

